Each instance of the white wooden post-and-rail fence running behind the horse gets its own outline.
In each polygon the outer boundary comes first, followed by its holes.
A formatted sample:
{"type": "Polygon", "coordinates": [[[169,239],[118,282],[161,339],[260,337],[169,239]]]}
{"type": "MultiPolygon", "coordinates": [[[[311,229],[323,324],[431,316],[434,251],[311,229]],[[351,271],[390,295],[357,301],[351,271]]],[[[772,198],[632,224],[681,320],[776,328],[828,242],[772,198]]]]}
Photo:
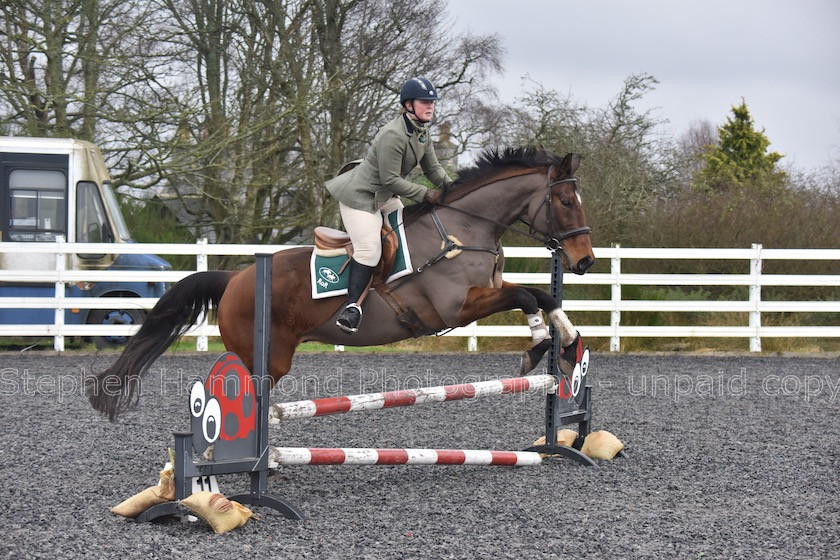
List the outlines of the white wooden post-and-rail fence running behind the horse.
{"type": "MultiPolygon", "coordinates": [[[[187,244],[116,244],[94,243],[0,243],[2,253],[52,254],[55,256],[55,270],[0,270],[2,284],[54,284],[55,297],[0,297],[0,308],[54,309],[55,322],[52,325],[0,325],[0,337],[52,337],[56,350],[64,349],[64,338],[71,336],[126,336],[136,332],[136,326],[126,325],[66,325],[66,309],[151,309],[153,298],[69,298],[64,297],[65,286],[78,282],[130,281],[130,282],[177,282],[193,272],[207,270],[209,256],[253,256],[256,253],[290,249],[289,245],[210,245],[200,240],[195,245],[187,244]],[[113,270],[66,270],[66,255],[89,254],[159,254],[195,256],[195,269],[189,271],[113,271],[113,270]]],[[[505,248],[506,258],[548,260],[547,249],[534,247],[505,248]]],[[[686,248],[623,248],[619,246],[596,248],[599,260],[609,260],[609,273],[589,273],[584,276],[567,274],[564,284],[609,286],[609,299],[566,299],[563,308],[568,312],[609,312],[609,325],[578,325],[584,337],[605,337],[610,339],[610,350],[619,351],[622,337],[711,337],[748,338],[750,350],[761,351],[764,337],[840,337],[840,297],[838,293],[827,301],[765,301],[762,288],[771,286],[820,286],[840,287],[840,274],[766,274],[766,261],[840,261],[840,249],[764,249],[759,244],[743,249],[686,249],[686,248]],[[746,274],[630,274],[622,273],[623,260],[736,260],[748,261],[746,274]],[[695,300],[628,300],[622,299],[622,286],[746,286],[749,297],[745,300],[695,301],[695,300]],[[670,311],[670,312],[740,312],[748,314],[745,325],[674,325],[644,326],[622,325],[623,312],[670,311]],[[833,324],[829,326],[762,325],[762,313],[833,313],[833,324]]],[[[550,274],[509,272],[504,279],[518,284],[548,286],[550,274]]],[[[219,336],[218,326],[205,318],[186,336],[196,338],[196,349],[206,350],[208,337],[219,336]]],[[[529,337],[530,329],[520,325],[479,325],[476,323],[454,329],[446,336],[468,339],[468,349],[476,350],[482,337],[529,337]]]]}

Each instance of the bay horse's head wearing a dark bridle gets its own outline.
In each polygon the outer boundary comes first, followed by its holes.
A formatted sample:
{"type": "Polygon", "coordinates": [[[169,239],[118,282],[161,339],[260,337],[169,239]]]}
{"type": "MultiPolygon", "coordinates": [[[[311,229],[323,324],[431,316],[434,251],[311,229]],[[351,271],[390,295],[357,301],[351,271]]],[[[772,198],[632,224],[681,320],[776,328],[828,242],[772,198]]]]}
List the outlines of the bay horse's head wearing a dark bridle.
{"type": "Polygon", "coordinates": [[[560,251],[563,266],[575,274],[583,274],[595,263],[575,178],[579,166],[580,156],[575,154],[550,166],[545,189],[535,193],[528,205],[531,227],[545,237],[550,249],[560,251]]]}

